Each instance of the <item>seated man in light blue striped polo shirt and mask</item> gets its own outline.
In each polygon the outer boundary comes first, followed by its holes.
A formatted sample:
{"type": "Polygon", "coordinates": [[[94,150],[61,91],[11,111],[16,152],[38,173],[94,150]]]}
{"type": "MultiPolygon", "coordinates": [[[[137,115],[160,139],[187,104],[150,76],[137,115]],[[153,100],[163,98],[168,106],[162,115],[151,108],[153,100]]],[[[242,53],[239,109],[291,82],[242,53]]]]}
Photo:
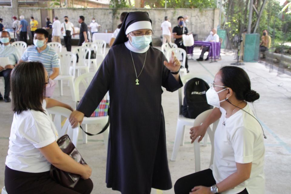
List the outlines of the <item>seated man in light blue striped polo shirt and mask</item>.
{"type": "Polygon", "coordinates": [[[59,57],[58,54],[46,43],[49,40],[49,32],[45,29],[38,28],[35,30],[33,44],[23,53],[20,62],[39,61],[43,64],[49,73],[50,79],[55,79],[59,75],[59,57]]]}

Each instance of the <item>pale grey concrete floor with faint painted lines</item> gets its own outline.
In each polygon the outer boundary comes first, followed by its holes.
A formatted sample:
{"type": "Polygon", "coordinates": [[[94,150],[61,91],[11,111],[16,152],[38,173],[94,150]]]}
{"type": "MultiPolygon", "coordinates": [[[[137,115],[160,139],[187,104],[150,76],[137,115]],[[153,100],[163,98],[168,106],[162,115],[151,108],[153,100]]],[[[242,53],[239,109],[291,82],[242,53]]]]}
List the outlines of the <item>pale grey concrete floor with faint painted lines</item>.
{"type": "MultiPolygon", "coordinates": [[[[108,50],[108,48],[107,48],[108,50]]],[[[222,60],[209,63],[206,61],[197,62],[200,50],[194,50],[194,60],[189,60],[189,70],[192,73],[201,73],[213,76],[224,65],[234,62],[232,53],[222,54],[222,60]]],[[[190,57],[191,58],[191,57],[190,57]]],[[[205,58],[205,57],[204,57],[205,58]]],[[[248,73],[252,89],[260,94],[260,99],[254,103],[257,118],[261,122],[268,139],[265,140],[265,174],[266,193],[289,193],[291,179],[291,76],[277,75],[277,71],[270,71],[267,66],[260,63],[245,63],[241,66],[248,73]],[[288,119],[289,118],[289,119],[288,119]]],[[[59,96],[58,85],[55,88],[54,98],[73,106],[72,98],[69,95],[69,88],[64,84],[64,95],[59,96]]],[[[0,81],[0,91],[4,93],[3,82],[0,81]]],[[[168,158],[171,157],[178,114],[178,92],[167,92],[162,94],[162,105],[166,119],[166,139],[168,158]]],[[[5,157],[8,150],[8,138],[13,113],[11,103],[0,102],[0,188],[4,186],[5,157]]],[[[89,132],[97,132],[96,126],[89,125],[89,132]]],[[[181,146],[175,162],[169,160],[169,168],[172,176],[172,183],[175,184],[179,177],[195,172],[195,158],[193,145],[190,144],[189,127],[186,128],[185,146],[181,146]]],[[[88,143],[82,144],[82,136],[79,136],[78,150],[85,161],[92,167],[91,179],[94,183],[93,194],[114,194],[120,193],[106,188],[105,169],[106,151],[103,144],[103,136],[96,135],[88,137],[88,143]]],[[[211,145],[201,146],[201,169],[209,167],[211,145]]],[[[172,194],[173,189],[157,191],[152,193],[172,194]]]]}

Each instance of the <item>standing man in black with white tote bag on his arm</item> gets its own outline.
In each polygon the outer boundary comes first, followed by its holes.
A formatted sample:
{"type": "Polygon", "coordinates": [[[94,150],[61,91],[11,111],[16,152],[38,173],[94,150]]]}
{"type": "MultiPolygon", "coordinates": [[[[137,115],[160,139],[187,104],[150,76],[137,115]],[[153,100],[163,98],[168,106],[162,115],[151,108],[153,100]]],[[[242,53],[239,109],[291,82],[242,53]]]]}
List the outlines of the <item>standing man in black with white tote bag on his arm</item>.
{"type": "MultiPolygon", "coordinates": [[[[188,29],[183,26],[184,25],[184,18],[182,16],[178,17],[178,25],[173,28],[173,38],[175,38],[175,44],[178,46],[178,48],[184,49],[187,53],[186,47],[183,45],[183,39],[182,35],[187,34],[188,35],[188,29]]],[[[187,73],[189,72],[188,70],[188,57],[186,56],[186,62],[185,62],[185,67],[187,69],[187,73]]]]}

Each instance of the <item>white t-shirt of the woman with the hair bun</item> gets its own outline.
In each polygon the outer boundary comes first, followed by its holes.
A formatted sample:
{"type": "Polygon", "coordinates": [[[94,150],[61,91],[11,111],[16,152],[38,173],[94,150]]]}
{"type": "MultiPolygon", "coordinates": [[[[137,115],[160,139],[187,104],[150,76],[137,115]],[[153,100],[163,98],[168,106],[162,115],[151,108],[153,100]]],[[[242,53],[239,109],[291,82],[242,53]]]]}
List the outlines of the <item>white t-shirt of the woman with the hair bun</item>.
{"type": "Polygon", "coordinates": [[[246,105],[243,110],[226,119],[226,111],[219,108],[222,115],[214,135],[214,159],[212,169],[216,183],[221,182],[237,171],[236,162],[252,162],[249,179],[223,194],[236,194],[247,189],[249,194],[265,193],[263,130],[253,110],[246,105]],[[225,126],[222,124],[225,121],[225,126]]]}

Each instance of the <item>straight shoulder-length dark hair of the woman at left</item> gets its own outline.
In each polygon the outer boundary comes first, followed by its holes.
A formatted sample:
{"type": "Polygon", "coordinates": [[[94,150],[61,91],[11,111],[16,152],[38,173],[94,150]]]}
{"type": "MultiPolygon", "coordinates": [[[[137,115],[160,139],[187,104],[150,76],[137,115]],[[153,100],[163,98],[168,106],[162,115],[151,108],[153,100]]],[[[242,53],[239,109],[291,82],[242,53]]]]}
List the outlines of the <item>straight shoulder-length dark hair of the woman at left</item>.
{"type": "Polygon", "coordinates": [[[11,72],[10,87],[15,113],[20,114],[26,110],[44,112],[45,71],[41,62],[18,64],[11,72]]]}

